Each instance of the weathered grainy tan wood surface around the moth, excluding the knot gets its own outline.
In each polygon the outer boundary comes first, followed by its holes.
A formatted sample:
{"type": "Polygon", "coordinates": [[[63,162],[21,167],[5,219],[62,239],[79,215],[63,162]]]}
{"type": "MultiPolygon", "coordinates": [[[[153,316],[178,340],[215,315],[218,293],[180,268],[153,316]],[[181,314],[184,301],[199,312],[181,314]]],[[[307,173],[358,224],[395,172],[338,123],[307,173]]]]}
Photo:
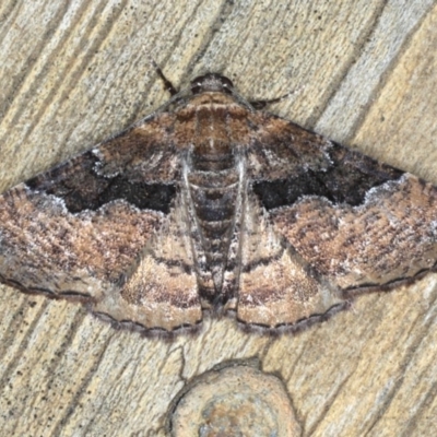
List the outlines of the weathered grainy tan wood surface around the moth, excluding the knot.
{"type": "MultiPolygon", "coordinates": [[[[205,71],[271,111],[437,184],[437,4],[421,1],[0,4],[0,189],[91,147],[205,71]],[[296,3],[296,4],[295,4],[296,3]]],[[[164,435],[170,401],[227,359],[284,381],[304,435],[437,435],[437,275],[297,335],[224,319],[174,342],[1,287],[2,435],[164,435]]]]}

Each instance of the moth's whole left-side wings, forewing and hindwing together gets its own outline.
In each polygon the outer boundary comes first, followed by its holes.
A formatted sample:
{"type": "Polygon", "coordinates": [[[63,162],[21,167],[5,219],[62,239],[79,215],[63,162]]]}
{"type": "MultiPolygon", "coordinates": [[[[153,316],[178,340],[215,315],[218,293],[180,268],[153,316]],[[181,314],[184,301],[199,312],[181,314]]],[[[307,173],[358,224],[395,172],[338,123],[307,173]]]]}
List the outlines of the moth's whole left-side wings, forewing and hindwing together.
{"type": "Polygon", "coordinates": [[[0,279],[145,329],[201,320],[162,114],[0,197],[0,279]]]}

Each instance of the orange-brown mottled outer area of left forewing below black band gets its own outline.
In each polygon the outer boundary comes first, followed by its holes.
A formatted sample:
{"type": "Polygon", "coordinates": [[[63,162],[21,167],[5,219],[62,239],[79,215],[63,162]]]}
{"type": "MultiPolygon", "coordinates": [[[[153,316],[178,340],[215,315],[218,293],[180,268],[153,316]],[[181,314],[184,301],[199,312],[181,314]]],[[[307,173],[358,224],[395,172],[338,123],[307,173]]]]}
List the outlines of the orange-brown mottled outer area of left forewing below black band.
{"type": "Polygon", "coordinates": [[[0,197],[0,275],[29,292],[98,300],[116,290],[162,220],[123,201],[67,211],[24,184],[0,197]]]}

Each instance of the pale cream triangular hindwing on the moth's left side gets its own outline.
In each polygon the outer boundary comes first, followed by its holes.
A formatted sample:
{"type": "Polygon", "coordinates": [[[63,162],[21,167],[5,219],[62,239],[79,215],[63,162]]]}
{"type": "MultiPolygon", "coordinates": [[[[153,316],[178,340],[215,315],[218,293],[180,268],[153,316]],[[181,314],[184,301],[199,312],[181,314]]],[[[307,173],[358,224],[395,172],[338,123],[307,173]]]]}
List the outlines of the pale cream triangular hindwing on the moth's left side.
{"type": "Polygon", "coordinates": [[[180,203],[146,245],[121,292],[105,296],[93,310],[167,331],[201,321],[188,224],[180,203]]]}

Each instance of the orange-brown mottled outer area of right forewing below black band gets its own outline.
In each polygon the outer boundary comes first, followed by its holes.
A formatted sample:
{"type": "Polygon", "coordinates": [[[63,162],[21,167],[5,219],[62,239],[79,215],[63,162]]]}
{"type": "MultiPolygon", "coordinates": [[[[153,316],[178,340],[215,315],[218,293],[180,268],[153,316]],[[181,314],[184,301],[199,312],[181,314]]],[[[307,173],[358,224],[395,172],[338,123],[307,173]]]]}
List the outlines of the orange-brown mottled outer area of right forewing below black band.
{"type": "Polygon", "coordinates": [[[359,206],[304,198],[271,212],[275,228],[342,288],[383,285],[432,269],[437,189],[413,175],[369,191],[359,206]]]}

